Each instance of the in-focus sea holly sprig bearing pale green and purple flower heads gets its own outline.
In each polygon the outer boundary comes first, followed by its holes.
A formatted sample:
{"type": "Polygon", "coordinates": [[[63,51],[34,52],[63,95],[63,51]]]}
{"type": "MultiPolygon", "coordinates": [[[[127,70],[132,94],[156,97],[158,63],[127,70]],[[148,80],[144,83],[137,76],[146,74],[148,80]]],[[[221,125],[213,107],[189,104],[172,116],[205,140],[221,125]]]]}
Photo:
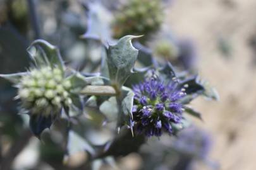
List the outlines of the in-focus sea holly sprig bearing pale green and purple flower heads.
{"type": "Polygon", "coordinates": [[[88,160],[94,161],[137,152],[151,137],[177,135],[190,125],[186,113],[201,118],[188,104],[210,91],[197,76],[177,74],[169,62],[135,69],[139,51],[133,47],[134,38],[140,36],[127,35],[109,45],[102,42],[101,74],[90,77],[64,64],[57,47],[35,40],[28,48],[32,59],[28,71],[0,75],[18,88],[15,99],[20,100],[20,112],[30,116],[32,133],[40,137],[55,120],[65,119],[66,154],[87,150],[88,160]],[[90,116],[88,108],[94,109],[90,116]],[[92,128],[88,122],[96,122],[92,117],[99,113],[106,120],[98,127],[115,124],[113,138],[101,145],[87,139],[92,128]],[[75,128],[78,125],[82,130],[75,128]]]}

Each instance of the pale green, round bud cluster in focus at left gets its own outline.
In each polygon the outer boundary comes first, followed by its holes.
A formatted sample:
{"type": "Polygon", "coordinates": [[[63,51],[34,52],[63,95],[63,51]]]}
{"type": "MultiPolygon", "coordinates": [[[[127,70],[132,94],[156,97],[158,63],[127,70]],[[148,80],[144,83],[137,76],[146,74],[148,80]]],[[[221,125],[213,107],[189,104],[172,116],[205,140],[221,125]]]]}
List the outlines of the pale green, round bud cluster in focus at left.
{"type": "Polygon", "coordinates": [[[21,77],[18,96],[21,105],[32,114],[49,116],[72,104],[70,90],[71,82],[64,79],[61,69],[42,67],[21,77]]]}

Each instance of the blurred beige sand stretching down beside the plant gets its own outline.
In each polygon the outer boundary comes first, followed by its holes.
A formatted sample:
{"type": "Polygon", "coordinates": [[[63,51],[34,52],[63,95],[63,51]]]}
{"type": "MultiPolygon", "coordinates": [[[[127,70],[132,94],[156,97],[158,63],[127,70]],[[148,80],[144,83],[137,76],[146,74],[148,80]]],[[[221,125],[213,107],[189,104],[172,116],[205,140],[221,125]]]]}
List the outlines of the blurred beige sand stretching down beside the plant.
{"type": "Polygon", "coordinates": [[[195,40],[200,75],[219,91],[221,101],[197,99],[192,105],[203,113],[204,122],[198,125],[212,133],[210,158],[224,170],[256,169],[256,67],[250,64],[248,46],[256,33],[255,16],[255,0],[180,0],[168,9],[168,26],[195,40]],[[217,50],[219,37],[231,42],[230,59],[217,50]]]}

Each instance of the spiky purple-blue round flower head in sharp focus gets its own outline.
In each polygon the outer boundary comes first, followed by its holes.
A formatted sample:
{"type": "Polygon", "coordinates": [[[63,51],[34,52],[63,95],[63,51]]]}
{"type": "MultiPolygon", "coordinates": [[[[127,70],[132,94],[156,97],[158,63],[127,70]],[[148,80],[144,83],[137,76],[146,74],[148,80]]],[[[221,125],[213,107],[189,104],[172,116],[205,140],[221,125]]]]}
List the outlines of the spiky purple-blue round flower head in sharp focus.
{"type": "Polygon", "coordinates": [[[185,89],[179,88],[176,79],[164,83],[151,77],[133,86],[134,105],[132,124],[135,132],[147,137],[173,134],[172,126],[181,123],[183,105],[179,102],[185,89]]]}

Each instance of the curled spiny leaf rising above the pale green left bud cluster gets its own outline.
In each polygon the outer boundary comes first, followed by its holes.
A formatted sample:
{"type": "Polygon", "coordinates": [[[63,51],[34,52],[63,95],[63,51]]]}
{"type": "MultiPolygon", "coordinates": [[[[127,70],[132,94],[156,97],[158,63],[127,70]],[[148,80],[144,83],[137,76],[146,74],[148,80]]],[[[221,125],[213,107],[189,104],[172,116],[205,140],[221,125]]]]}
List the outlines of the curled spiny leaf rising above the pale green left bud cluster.
{"type": "Polygon", "coordinates": [[[45,40],[35,40],[28,47],[28,53],[31,55],[35,65],[50,65],[51,67],[58,66],[61,71],[64,71],[64,62],[59,53],[59,49],[51,45],[45,40]]]}

